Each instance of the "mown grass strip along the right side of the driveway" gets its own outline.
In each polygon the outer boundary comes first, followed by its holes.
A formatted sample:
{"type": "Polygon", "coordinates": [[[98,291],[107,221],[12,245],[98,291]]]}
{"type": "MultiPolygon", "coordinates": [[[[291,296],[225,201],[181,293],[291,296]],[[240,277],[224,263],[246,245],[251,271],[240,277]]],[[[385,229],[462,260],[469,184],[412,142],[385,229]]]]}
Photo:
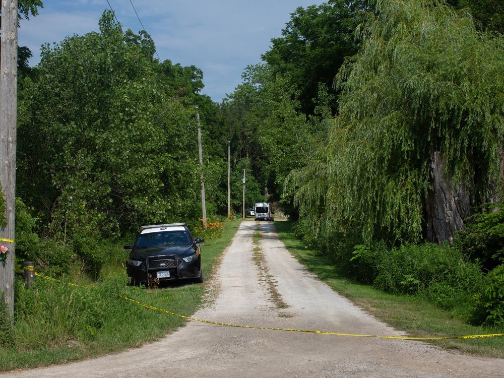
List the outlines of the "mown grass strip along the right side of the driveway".
{"type": "MultiPolygon", "coordinates": [[[[388,294],[370,285],[353,282],[326,256],[318,251],[305,249],[302,240],[296,238],[292,230],[293,222],[275,221],[275,226],[289,252],[311,273],[316,274],[320,280],[377,319],[405,331],[410,336],[459,336],[504,332],[501,329],[465,324],[456,314],[439,309],[420,296],[388,294]]],[[[467,354],[504,358],[504,337],[440,340],[431,343],[467,354]]]]}

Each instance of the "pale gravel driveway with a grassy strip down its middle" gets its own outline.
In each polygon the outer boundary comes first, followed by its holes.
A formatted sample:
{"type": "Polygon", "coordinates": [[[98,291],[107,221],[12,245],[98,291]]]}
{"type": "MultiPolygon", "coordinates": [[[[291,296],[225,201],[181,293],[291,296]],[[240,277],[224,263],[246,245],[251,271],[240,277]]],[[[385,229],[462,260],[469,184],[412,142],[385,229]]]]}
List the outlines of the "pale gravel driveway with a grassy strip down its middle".
{"type": "MultiPolygon", "coordinates": [[[[261,327],[400,335],[309,274],[271,223],[243,222],[223,257],[218,295],[195,316],[261,327]],[[253,246],[261,230],[261,248],[253,246]]],[[[238,329],[190,322],[124,353],[6,376],[474,377],[504,376],[504,360],[422,342],[238,329]]]]}

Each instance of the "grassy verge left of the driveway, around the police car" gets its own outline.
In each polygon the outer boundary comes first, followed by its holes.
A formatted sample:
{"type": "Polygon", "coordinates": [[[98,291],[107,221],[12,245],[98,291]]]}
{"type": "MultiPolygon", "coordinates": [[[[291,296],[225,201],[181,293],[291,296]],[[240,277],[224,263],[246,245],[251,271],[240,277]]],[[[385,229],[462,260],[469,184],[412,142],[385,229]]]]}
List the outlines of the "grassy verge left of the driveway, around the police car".
{"type": "MultiPolygon", "coordinates": [[[[223,225],[222,237],[202,244],[207,281],[240,222],[223,225]]],[[[85,278],[77,282],[88,283],[85,278]]],[[[66,363],[158,340],[186,321],[143,308],[115,294],[188,315],[201,305],[207,286],[183,284],[147,290],[125,286],[125,282],[121,266],[107,267],[105,278],[92,284],[91,289],[37,279],[34,289],[26,290],[18,282],[17,301],[33,306],[35,315],[16,320],[13,346],[0,347],[0,371],[66,363]]]]}

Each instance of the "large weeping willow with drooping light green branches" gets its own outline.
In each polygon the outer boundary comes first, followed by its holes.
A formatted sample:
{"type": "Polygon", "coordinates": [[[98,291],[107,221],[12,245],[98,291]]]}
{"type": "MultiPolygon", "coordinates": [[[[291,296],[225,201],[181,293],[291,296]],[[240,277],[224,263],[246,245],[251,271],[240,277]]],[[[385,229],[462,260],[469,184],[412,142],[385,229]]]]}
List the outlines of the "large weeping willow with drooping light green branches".
{"type": "Polygon", "coordinates": [[[321,237],[450,239],[502,188],[503,38],[444,2],[375,6],[336,77],[327,143],[286,185],[321,237]]]}

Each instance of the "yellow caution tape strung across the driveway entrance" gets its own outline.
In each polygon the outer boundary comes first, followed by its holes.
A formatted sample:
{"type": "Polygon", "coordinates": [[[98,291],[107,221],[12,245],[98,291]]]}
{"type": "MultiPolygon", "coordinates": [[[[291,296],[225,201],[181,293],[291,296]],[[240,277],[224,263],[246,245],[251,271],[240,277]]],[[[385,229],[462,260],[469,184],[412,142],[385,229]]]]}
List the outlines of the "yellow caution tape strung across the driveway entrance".
{"type": "MultiPolygon", "coordinates": [[[[38,273],[35,273],[36,276],[46,278],[52,281],[58,281],[59,280],[48,277],[48,276],[43,276],[38,273]]],[[[83,289],[88,289],[86,286],[81,286],[77,284],[72,284],[68,283],[68,285],[72,286],[77,286],[83,289]]],[[[319,334],[319,335],[335,335],[335,336],[349,336],[349,337],[374,337],[374,338],[380,338],[380,339],[395,339],[395,340],[447,340],[447,339],[482,339],[482,338],[487,338],[487,337],[501,337],[504,336],[504,333],[496,333],[496,334],[489,334],[489,335],[465,335],[465,336],[439,336],[439,337],[409,337],[409,336],[385,336],[385,335],[362,335],[362,334],[352,334],[352,333],[341,333],[341,332],[327,332],[327,331],[316,331],[316,330],[296,330],[292,328],[276,328],[276,327],[256,327],[256,326],[243,326],[243,325],[238,325],[238,324],[228,324],[228,323],[219,323],[219,322],[212,322],[209,320],[203,320],[203,319],[198,319],[198,318],[193,318],[193,317],[186,317],[184,315],[180,315],[178,313],[168,311],[162,308],[154,307],[146,303],[142,303],[138,300],[128,298],[127,296],[117,294],[119,298],[122,298],[124,300],[128,300],[130,302],[133,302],[135,304],[138,304],[139,306],[149,308],[151,310],[167,313],[169,315],[186,319],[186,320],[192,320],[195,322],[201,322],[201,323],[207,323],[207,324],[213,324],[216,326],[224,326],[224,327],[235,327],[235,328],[248,328],[248,329],[254,329],[254,330],[272,330],[272,331],[289,331],[289,332],[303,332],[303,333],[314,333],[314,334],[319,334]]]]}

